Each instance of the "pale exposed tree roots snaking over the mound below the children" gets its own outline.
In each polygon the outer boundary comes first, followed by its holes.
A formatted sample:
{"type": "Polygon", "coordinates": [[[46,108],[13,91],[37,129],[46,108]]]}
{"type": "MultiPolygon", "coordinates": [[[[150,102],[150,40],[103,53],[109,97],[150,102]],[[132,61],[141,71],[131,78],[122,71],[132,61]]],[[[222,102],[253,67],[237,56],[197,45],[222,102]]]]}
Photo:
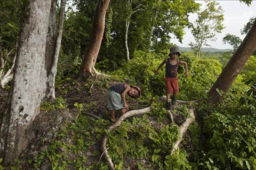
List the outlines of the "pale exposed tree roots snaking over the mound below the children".
{"type": "MultiPolygon", "coordinates": [[[[165,96],[161,96],[161,98],[159,98],[158,102],[163,102],[166,100],[166,97],[165,96]]],[[[178,100],[177,103],[181,103],[181,104],[191,104],[191,102],[183,102],[183,101],[180,101],[178,100]]],[[[125,113],[123,116],[119,117],[117,119],[117,121],[115,122],[115,124],[113,124],[112,126],[109,127],[109,129],[107,129],[108,132],[110,131],[113,131],[115,129],[117,129],[120,124],[123,122],[123,120],[125,120],[126,118],[129,118],[131,116],[139,116],[139,115],[142,115],[142,114],[145,114],[145,113],[149,113],[151,112],[152,108],[151,106],[148,107],[148,108],[144,108],[144,109],[141,109],[141,110],[131,110],[127,113],[125,113]]],[[[170,116],[171,118],[171,122],[173,123],[174,120],[173,120],[173,115],[171,114],[171,111],[170,110],[167,110],[167,113],[168,115],[170,116]]],[[[177,141],[175,141],[175,145],[173,146],[173,148],[171,149],[171,154],[174,153],[175,150],[178,149],[179,147],[179,144],[181,143],[181,140],[183,138],[183,135],[185,134],[185,132],[187,131],[187,128],[193,124],[193,122],[195,121],[195,114],[194,114],[194,110],[193,108],[191,108],[189,110],[189,114],[191,115],[190,118],[187,118],[185,120],[185,122],[183,122],[183,124],[181,124],[181,127],[180,127],[180,135],[181,135],[181,139],[178,139],[177,141]]],[[[112,162],[112,159],[111,157],[109,156],[108,152],[107,152],[107,139],[108,139],[108,135],[107,133],[105,133],[104,137],[103,137],[103,141],[101,143],[101,147],[102,147],[102,150],[103,150],[103,156],[104,158],[106,159],[107,163],[109,163],[109,168],[111,170],[114,170],[115,169],[115,166],[112,162]]]]}

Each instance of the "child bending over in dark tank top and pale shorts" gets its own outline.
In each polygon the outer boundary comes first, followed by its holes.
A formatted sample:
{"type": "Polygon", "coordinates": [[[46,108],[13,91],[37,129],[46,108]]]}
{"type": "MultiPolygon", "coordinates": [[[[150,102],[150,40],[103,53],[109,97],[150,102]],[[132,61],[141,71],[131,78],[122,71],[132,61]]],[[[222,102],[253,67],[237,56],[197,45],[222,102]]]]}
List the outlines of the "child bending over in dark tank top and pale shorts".
{"type": "Polygon", "coordinates": [[[115,122],[115,110],[121,109],[121,114],[129,110],[126,102],[126,94],[131,98],[139,98],[141,89],[138,86],[129,86],[128,84],[114,84],[107,92],[107,108],[110,110],[111,120],[115,122]]]}

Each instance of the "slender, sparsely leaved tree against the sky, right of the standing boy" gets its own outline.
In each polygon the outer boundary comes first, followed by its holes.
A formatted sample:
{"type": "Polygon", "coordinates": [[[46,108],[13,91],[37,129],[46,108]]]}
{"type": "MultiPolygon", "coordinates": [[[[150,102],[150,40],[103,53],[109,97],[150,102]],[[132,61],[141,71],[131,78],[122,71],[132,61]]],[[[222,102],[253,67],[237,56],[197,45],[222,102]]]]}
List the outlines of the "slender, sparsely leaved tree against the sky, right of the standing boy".
{"type": "Polygon", "coordinates": [[[223,10],[219,3],[209,0],[205,3],[206,8],[197,13],[198,18],[194,24],[190,25],[195,42],[190,42],[189,46],[195,50],[198,58],[200,58],[201,47],[203,45],[210,46],[207,41],[215,41],[216,33],[221,33],[225,28],[222,24],[224,21],[223,10]]]}

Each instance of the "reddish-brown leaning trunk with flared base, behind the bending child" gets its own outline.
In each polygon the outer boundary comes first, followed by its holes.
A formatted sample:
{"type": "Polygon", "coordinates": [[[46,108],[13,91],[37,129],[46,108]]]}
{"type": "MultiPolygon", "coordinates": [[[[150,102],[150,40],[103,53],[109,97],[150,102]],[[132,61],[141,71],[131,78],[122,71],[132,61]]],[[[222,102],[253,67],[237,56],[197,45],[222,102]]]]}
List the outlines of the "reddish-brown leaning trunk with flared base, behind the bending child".
{"type": "Polygon", "coordinates": [[[103,33],[105,29],[105,15],[109,7],[110,0],[98,0],[97,7],[93,16],[93,30],[88,44],[87,51],[83,56],[83,62],[79,70],[79,78],[83,79],[92,74],[99,74],[95,70],[95,63],[101,47],[103,33]]]}

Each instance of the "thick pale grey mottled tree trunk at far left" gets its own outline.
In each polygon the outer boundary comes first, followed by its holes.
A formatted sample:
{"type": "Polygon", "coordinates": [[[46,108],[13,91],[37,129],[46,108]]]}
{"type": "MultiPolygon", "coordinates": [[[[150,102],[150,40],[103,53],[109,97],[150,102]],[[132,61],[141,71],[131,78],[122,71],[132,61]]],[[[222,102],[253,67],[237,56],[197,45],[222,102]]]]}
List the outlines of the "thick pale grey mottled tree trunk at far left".
{"type": "Polygon", "coordinates": [[[47,66],[45,60],[47,33],[52,0],[30,1],[19,39],[9,108],[1,124],[0,157],[10,163],[27,147],[27,131],[39,114],[45,96],[47,66]]]}

